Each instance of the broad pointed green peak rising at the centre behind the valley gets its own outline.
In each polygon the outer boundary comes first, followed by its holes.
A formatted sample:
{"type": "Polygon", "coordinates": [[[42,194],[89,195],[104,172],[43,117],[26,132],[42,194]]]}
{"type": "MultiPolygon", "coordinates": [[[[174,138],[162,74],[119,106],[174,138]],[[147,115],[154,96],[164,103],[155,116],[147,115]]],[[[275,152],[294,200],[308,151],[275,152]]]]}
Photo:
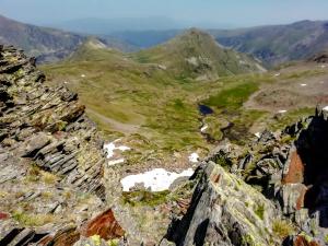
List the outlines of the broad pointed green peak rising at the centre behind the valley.
{"type": "Polygon", "coordinates": [[[137,52],[133,58],[143,63],[157,63],[181,80],[214,80],[221,75],[265,71],[250,56],[224,49],[209,34],[195,28],[137,52]]]}

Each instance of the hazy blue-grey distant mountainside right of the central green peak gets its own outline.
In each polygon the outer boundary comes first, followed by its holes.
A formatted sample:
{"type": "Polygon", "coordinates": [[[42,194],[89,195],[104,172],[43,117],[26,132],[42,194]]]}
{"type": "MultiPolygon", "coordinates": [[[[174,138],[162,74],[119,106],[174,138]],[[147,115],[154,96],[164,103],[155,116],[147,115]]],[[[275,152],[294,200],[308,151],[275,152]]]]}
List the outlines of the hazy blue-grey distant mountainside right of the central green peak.
{"type": "Polygon", "coordinates": [[[268,65],[306,59],[328,47],[328,23],[302,21],[289,25],[260,26],[210,33],[215,39],[268,65]]]}

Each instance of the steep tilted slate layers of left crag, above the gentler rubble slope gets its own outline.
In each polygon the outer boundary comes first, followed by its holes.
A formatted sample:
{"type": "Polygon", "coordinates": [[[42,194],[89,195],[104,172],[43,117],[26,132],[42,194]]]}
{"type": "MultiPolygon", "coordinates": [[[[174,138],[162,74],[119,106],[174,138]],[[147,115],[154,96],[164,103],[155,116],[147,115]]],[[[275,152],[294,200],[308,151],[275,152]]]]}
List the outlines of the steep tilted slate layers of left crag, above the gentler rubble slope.
{"type": "Polygon", "coordinates": [[[75,93],[48,87],[34,60],[0,47],[0,144],[65,184],[104,198],[105,162],[96,128],[75,93]]]}

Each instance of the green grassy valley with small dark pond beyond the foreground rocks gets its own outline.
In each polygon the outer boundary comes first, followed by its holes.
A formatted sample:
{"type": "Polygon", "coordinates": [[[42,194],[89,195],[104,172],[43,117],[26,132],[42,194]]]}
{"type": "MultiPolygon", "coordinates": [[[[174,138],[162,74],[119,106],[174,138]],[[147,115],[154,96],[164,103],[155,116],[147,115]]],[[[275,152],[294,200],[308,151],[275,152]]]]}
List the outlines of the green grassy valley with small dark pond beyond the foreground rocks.
{"type": "MultiPolygon", "coordinates": [[[[184,37],[172,43],[185,40],[184,37]]],[[[207,79],[214,80],[200,82],[197,80],[200,73],[194,73],[195,79],[176,73],[178,68],[189,71],[183,56],[172,52],[167,52],[172,57],[166,52],[154,56],[154,50],[163,51],[167,46],[172,47],[171,43],[124,54],[90,39],[69,59],[42,67],[49,84],[79,92],[105,139],[121,138],[134,148],[125,159],[129,167],[124,168],[188,166],[190,154],[203,156],[224,138],[244,143],[258,131],[285,126],[313,112],[317,103],[326,103],[323,91],[326,83],[321,82],[327,80],[328,71],[317,63],[301,62],[277,71],[219,78],[206,67],[200,72],[206,71],[204,74],[210,74],[207,79]],[[152,57],[141,59],[141,54],[152,57]],[[206,106],[210,109],[203,110],[206,106]]],[[[197,51],[206,47],[200,46],[197,51]]]]}

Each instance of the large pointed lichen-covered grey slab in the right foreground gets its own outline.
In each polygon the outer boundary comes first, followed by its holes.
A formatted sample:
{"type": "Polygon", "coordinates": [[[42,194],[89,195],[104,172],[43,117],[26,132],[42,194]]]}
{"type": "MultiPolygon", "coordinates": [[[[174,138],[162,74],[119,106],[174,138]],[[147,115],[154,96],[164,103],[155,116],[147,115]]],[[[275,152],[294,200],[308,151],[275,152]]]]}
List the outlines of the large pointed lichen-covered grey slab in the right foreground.
{"type": "Polygon", "coordinates": [[[271,201],[209,162],[187,214],[168,238],[177,245],[278,245],[272,232],[278,218],[271,201]]]}

